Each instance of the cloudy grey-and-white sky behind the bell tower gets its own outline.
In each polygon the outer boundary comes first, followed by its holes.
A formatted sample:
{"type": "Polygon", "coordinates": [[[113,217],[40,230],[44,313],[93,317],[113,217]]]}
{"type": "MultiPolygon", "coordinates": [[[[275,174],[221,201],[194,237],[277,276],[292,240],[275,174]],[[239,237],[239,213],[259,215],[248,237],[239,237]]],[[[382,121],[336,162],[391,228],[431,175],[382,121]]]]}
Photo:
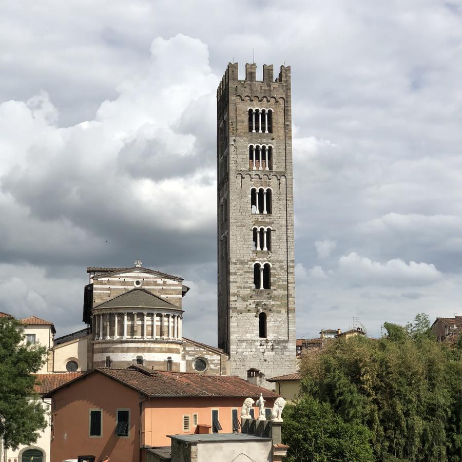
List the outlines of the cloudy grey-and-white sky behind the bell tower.
{"type": "Polygon", "coordinates": [[[462,2],[0,7],[0,311],[83,327],[86,266],[180,275],[216,344],[216,87],[292,66],[297,334],[462,314],[462,2]]]}

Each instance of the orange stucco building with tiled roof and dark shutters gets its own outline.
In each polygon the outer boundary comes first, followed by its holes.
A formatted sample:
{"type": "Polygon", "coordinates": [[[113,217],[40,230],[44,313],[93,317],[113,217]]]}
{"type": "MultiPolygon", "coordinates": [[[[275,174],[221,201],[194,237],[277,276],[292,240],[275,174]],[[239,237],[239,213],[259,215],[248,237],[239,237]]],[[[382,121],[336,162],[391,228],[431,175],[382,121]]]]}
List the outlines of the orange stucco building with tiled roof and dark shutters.
{"type": "Polygon", "coordinates": [[[260,393],[271,408],[276,393],[238,377],[93,369],[46,395],[52,399],[51,462],[79,455],[140,462],[143,446],[170,445],[166,435],[199,432],[200,426],[231,433],[243,400],[260,393]]]}

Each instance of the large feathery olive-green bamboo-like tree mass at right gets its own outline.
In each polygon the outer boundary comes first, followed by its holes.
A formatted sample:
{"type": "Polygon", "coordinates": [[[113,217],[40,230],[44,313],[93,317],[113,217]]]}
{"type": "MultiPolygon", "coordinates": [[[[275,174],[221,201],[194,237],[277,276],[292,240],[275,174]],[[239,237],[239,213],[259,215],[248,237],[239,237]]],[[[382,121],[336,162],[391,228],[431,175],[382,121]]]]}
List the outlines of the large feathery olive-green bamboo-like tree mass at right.
{"type": "Polygon", "coordinates": [[[371,460],[462,460],[462,350],[432,339],[422,314],[384,326],[386,338],[337,339],[307,355],[303,392],[368,427],[371,460]]]}

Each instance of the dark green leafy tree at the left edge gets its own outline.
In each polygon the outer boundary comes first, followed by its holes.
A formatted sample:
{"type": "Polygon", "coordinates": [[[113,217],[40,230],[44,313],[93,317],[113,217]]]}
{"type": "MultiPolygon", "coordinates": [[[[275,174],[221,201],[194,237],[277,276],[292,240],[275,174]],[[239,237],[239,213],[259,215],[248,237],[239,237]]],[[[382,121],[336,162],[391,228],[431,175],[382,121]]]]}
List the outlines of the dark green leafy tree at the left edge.
{"type": "Polygon", "coordinates": [[[33,399],[34,374],[45,356],[45,347],[25,344],[18,321],[0,318],[0,437],[5,447],[29,445],[46,427],[45,410],[33,399]]]}

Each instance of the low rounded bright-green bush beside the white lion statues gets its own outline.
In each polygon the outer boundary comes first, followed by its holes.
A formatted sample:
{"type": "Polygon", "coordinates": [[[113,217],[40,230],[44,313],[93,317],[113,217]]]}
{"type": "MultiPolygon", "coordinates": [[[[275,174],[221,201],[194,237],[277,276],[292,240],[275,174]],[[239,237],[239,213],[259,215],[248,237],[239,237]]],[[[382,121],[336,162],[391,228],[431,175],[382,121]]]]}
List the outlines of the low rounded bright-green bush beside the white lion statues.
{"type": "Polygon", "coordinates": [[[284,408],[283,441],[290,446],[286,462],[370,462],[371,432],[348,423],[327,403],[303,396],[284,408]]]}

